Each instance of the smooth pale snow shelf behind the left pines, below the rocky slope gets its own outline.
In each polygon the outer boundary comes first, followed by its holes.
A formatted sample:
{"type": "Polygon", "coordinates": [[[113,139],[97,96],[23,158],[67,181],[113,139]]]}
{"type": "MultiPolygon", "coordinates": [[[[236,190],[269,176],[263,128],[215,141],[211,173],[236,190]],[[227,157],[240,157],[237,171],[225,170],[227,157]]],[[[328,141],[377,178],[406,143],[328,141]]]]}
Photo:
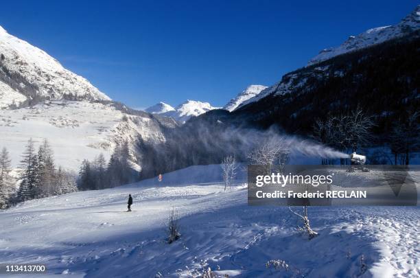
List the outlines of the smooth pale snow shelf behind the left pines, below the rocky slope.
{"type": "Polygon", "coordinates": [[[145,115],[128,115],[112,104],[55,101],[32,108],[3,109],[0,113],[0,147],[8,148],[16,167],[25,144],[48,139],[56,163],[78,170],[83,159],[103,152],[108,157],[115,143],[133,143],[141,135],[146,141],[164,140],[160,124],[145,115]]]}

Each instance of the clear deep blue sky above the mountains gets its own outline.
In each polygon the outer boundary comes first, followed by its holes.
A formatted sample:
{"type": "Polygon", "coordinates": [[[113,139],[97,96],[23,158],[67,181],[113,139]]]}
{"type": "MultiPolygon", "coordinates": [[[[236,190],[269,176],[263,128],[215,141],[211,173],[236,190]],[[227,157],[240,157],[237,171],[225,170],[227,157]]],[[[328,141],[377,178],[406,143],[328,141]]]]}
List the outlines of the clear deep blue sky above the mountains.
{"type": "Polygon", "coordinates": [[[223,106],[417,1],[7,1],[0,25],[114,100],[223,106]],[[346,2],[346,3],[344,3],[346,2]]]}

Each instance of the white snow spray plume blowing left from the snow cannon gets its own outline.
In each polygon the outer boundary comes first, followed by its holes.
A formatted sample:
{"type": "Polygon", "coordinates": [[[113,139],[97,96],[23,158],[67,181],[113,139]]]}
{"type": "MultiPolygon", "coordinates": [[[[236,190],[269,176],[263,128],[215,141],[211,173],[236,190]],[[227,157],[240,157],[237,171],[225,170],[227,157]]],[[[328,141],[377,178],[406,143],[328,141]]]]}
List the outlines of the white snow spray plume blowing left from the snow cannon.
{"type": "Polygon", "coordinates": [[[278,128],[257,130],[237,128],[222,122],[192,123],[168,130],[163,143],[140,140],[139,161],[143,176],[171,172],[191,165],[218,164],[233,155],[237,161],[249,161],[249,155],[259,146],[273,144],[288,150],[291,156],[302,155],[312,159],[347,159],[348,154],[339,152],[316,141],[285,135],[278,128]]]}

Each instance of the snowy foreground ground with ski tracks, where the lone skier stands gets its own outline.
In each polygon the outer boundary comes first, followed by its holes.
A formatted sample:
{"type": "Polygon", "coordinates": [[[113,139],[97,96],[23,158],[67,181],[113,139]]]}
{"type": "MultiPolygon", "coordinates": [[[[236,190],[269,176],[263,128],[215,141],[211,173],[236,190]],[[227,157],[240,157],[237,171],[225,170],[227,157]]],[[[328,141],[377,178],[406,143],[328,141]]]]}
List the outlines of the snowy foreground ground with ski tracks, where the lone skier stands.
{"type": "Polygon", "coordinates": [[[419,207],[310,207],[320,235],[307,240],[287,208],[250,207],[242,181],[224,192],[218,174],[217,165],[195,166],[165,183],[25,202],[0,213],[0,263],[42,263],[72,277],[194,277],[203,266],[229,277],[419,277],[419,207]],[[173,244],[170,207],[182,233],[173,244]],[[270,259],[288,270],[266,268],[270,259]]]}

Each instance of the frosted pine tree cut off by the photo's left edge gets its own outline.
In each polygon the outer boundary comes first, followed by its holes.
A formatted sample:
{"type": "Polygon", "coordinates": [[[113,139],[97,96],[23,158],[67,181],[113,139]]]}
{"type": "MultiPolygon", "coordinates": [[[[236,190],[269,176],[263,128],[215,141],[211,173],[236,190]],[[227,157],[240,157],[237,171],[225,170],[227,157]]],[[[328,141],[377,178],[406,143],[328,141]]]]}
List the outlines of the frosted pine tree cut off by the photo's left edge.
{"type": "Polygon", "coordinates": [[[0,209],[10,205],[10,196],[14,191],[11,171],[11,160],[9,152],[3,148],[0,152],[0,209]]]}

